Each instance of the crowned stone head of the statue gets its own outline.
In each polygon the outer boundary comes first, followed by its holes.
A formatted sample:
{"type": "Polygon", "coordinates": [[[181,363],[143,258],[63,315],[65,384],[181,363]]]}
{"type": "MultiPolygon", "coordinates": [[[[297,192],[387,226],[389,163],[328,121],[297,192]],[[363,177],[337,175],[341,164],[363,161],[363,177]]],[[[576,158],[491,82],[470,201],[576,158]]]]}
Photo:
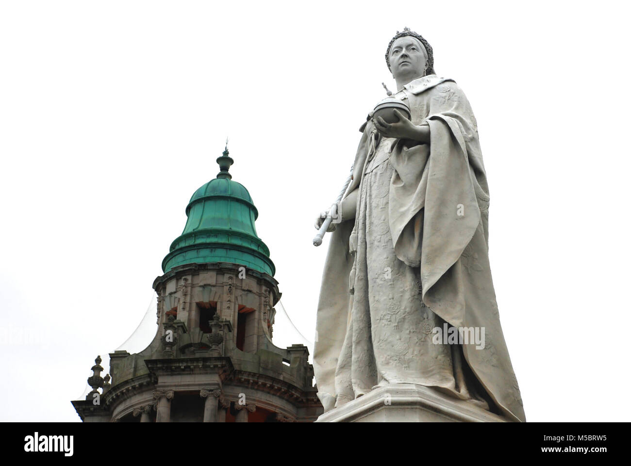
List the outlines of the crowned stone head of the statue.
{"type": "Polygon", "coordinates": [[[392,76],[435,75],[432,46],[423,36],[404,28],[392,37],[386,51],[386,63],[392,76]]]}

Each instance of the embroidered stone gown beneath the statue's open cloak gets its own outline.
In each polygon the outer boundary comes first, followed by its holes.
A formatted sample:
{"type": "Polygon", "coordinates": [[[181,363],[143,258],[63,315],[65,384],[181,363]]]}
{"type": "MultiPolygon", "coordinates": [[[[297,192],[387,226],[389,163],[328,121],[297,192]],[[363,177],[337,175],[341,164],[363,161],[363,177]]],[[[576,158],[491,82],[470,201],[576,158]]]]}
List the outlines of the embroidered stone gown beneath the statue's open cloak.
{"type": "MultiPolygon", "coordinates": [[[[417,123],[418,124],[418,123],[417,123]]],[[[433,344],[432,330],[445,323],[422,300],[420,268],[394,253],[388,205],[393,168],[391,148],[398,141],[373,129],[376,150],[367,157],[359,186],[351,253],[353,307],[335,374],[336,406],[388,383],[434,386],[488,409],[471,371],[463,368],[459,345],[433,344]],[[356,238],[356,239],[355,239],[356,238]],[[471,385],[471,383],[469,383],[471,385]]]]}

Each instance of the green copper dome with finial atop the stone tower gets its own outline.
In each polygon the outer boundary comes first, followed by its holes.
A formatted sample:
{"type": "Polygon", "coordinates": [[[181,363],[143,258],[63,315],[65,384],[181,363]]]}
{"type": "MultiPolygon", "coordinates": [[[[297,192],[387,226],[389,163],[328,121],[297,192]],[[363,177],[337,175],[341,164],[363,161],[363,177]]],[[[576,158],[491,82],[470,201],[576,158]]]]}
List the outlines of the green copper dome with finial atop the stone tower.
{"type": "Polygon", "coordinates": [[[269,249],[256,234],[259,216],[245,186],[228,173],[228,148],[217,158],[221,171],[201,186],[186,206],[188,220],[162,261],[163,272],[192,263],[230,262],[274,275],[269,249]]]}

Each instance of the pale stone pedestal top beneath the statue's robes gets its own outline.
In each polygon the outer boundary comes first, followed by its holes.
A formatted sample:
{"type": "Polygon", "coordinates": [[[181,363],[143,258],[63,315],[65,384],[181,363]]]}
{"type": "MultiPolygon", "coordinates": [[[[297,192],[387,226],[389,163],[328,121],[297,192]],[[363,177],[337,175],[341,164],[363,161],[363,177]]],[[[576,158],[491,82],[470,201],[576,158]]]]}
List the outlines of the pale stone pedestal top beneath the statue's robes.
{"type": "Polygon", "coordinates": [[[471,402],[411,383],[380,386],[315,422],[508,422],[471,402]]]}

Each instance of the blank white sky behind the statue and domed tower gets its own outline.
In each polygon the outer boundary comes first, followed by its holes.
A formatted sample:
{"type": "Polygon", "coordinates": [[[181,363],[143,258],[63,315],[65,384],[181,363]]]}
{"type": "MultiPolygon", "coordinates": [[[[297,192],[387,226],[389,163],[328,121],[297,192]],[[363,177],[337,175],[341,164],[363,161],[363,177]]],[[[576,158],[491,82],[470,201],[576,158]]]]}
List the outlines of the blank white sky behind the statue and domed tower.
{"type": "MultiPolygon", "coordinates": [[[[149,308],[125,349],[148,344],[151,284],[227,136],[312,338],[327,248],[312,224],[380,83],[394,88],[384,53],[408,26],[478,120],[528,421],[629,421],[625,4],[0,3],[0,420],[78,421],[93,359],[107,371],[149,308]]],[[[276,344],[303,342],[277,309],[276,344]]]]}

